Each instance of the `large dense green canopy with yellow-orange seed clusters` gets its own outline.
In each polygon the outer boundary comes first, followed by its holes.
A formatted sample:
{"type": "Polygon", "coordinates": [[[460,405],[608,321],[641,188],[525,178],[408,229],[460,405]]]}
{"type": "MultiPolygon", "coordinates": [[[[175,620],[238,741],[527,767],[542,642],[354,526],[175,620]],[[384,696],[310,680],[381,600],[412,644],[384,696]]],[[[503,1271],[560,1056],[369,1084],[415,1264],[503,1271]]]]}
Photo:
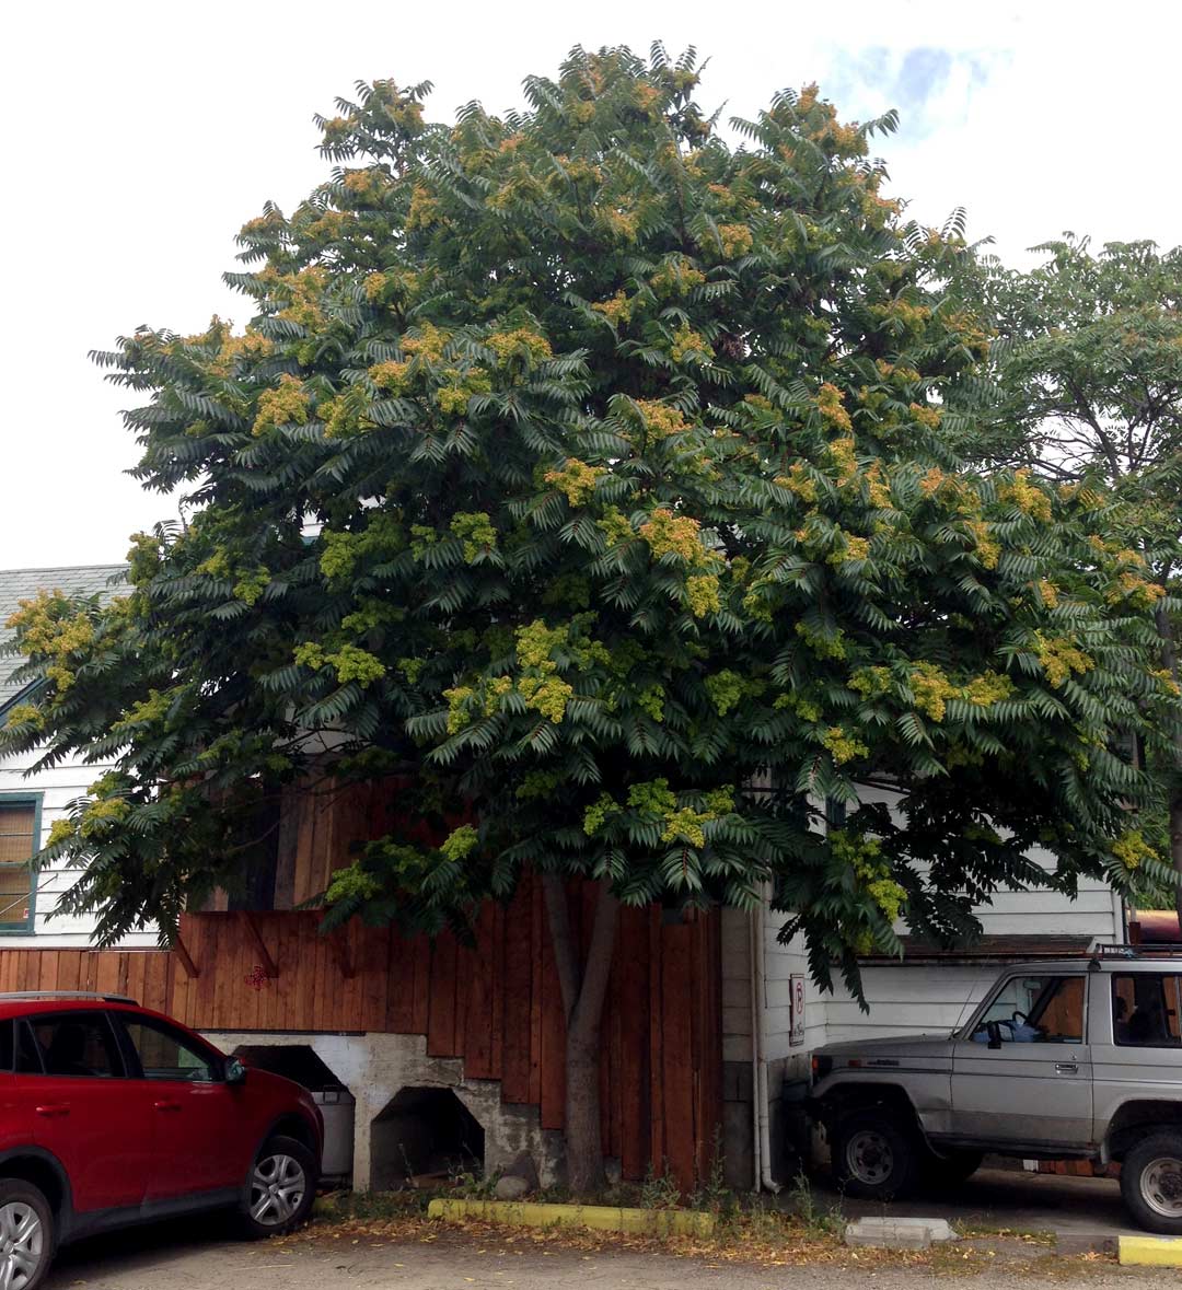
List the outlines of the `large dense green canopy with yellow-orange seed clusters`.
{"type": "Polygon", "coordinates": [[[959,222],[883,195],[893,115],[786,90],[733,146],[697,86],[692,53],[574,50],[452,125],[360,84],[330,177],[241,231],[245,329],[98,355],[191,517],[110,608],[17,615],[45,684],[3,747],[115,762],[43,855],[103,938],[241,881],[241,820],[310,775],[468,811],[369,845],[330,918],[463,922],[523,866],[766,882],[856,988],[897,917],[964,938],[1001,884],[1156,863],[1120,739],[1172,720],[1161,588],[1106,501],[960,464],[959,222]]]}

